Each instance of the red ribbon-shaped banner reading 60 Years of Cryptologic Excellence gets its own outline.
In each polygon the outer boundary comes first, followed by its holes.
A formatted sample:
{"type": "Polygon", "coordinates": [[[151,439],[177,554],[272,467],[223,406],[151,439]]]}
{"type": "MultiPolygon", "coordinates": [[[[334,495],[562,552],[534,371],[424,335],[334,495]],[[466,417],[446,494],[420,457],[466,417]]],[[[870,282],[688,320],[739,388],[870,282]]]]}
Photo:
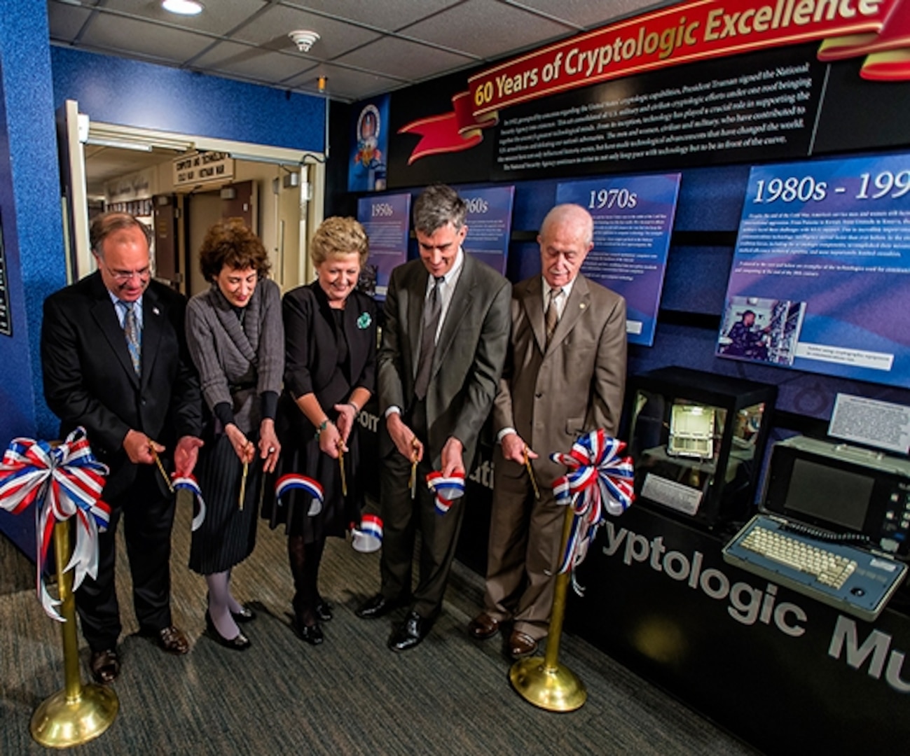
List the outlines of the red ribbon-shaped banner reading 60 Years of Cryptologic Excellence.
{"type": "Polygon", "coordinates": [[[480,72],[452,98],[455,110],[413,121],[422,137],[410,163],[483,138],[497,111],[568,89],[706,58],[824,40],[820,60],[868,55],[861,76],[910,79],[910,0],[693,0],[480,72]]]}

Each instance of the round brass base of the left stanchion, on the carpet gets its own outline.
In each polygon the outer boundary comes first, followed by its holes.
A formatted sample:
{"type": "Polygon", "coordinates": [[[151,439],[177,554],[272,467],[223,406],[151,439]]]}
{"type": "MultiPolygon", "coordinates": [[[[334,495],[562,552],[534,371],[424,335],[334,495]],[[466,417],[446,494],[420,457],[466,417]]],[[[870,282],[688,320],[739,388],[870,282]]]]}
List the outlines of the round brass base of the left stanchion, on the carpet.
{"type": "Polygon", "coordinates": [[[81,745],[106,731],[119,708],[116,693],[104,685],[83,685],[72,702],[66,701],[66,690],[58,690],[35,709],[32,737],[46,748],[81,745]]]}

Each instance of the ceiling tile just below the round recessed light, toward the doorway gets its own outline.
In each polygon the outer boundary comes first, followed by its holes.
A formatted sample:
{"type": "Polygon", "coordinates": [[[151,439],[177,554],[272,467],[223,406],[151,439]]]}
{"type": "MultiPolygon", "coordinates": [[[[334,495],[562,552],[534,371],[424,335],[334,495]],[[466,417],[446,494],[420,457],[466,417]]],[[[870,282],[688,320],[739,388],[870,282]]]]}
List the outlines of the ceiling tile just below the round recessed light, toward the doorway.
{"type": "Polygon", "coordinates": [[[211,37],[112,15],[98,15],[82,37],[86,47],[111,50],[117,55],[125,55],[128,50],[178,64],[211,43],[211,37]]]}

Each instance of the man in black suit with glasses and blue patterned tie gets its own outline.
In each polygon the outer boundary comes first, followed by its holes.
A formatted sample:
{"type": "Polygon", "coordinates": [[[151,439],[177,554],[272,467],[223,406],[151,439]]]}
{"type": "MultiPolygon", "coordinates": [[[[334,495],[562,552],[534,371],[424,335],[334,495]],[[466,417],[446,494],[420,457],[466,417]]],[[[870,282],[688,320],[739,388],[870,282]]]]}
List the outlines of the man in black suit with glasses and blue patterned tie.
{"type": "Polygon", "coordinates": [[[110,469],[103,497],[111,519],[98,540],[97,578],[76,591],[92,674],[104,683],[120,670],[114,560],[121,515],[140,632],[171,653],[189,650],[171,621],[175,498],[156,456],[173,449],[177,471],[193,469],[201,400],[184,333],[186,300],[151,280],[149,241],[147,227],[126,213],[97,217],[91,244],[98,270],[47,297],[41,330],[45,398],[61,436],[86,428],[110,469]]]}

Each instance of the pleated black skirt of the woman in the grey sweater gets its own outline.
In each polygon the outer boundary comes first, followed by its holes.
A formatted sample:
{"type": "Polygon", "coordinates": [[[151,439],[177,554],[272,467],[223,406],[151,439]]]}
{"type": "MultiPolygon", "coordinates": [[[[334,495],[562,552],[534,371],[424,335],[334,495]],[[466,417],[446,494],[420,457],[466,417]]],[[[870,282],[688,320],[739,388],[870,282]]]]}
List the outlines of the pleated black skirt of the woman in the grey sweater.
{"type": "Polygon", "coordinates": [[[243,509],[239,501],[243,465],[225,434],[207,440],[196,473],[206,502],[206,519],[193,533],[189,569],[211,575],[229,570],[253,552],[262,460],[257,456],[249,465],[243,509]]]}

